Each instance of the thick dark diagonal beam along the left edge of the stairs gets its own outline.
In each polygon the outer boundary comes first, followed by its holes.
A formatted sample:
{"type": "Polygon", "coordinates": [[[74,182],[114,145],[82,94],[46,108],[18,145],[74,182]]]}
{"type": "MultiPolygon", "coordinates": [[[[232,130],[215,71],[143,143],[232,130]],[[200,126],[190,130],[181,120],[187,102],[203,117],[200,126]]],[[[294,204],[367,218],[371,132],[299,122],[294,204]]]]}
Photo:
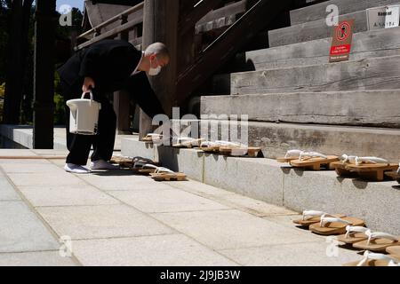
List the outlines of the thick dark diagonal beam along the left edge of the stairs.
{"type": "Polygon", "coordinates": [[[197,87],[221,65],[265,28],[274,16],[284,11],[288,3],[260,0],[207,48],[196,64],[180,75],[177,82],[178,102],[183,103],[197,87]],[[237,39],[241,40],[238,42],[237,39]]]}

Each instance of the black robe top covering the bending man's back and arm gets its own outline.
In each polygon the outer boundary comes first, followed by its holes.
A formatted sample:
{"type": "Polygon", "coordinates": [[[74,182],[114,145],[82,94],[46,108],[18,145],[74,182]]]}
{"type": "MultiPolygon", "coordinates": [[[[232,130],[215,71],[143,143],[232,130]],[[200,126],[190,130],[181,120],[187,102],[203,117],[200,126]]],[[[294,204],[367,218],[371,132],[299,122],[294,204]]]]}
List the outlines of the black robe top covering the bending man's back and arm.
{"type": "Polygon", "coordinates": [[[142,52],[122,40],[103,40],[76,52],[57,71],[70,92],[82,90],[84,77],[92,77],[98,92],[128,91],[131,98],[150,117],[165,114],[145,72],[132,75],[142,52]]]}

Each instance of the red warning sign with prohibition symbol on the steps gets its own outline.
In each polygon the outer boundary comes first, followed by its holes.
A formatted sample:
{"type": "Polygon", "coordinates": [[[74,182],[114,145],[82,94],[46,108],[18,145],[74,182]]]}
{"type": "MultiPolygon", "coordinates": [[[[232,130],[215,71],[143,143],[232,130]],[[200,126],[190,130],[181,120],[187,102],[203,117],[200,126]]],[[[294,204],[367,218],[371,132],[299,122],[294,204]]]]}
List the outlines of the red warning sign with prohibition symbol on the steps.
{"type": "Polygon", "coordinates": [[[340,62],[350,57],[354,20],[344,20],[334,28],[329,62],[340,62]]]}

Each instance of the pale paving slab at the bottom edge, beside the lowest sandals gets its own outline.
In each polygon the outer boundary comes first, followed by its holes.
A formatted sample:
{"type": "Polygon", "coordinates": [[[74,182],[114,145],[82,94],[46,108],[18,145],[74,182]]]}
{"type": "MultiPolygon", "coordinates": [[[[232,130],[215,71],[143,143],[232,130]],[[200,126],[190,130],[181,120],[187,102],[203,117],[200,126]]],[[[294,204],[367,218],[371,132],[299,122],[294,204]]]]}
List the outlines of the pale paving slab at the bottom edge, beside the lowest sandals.
{"type": "Polygon", "coordinates": [[[363,258],[355,251],[339,248],[328,241],[229,249],[219,252],[246,266],[341,266],[363,258]]]}

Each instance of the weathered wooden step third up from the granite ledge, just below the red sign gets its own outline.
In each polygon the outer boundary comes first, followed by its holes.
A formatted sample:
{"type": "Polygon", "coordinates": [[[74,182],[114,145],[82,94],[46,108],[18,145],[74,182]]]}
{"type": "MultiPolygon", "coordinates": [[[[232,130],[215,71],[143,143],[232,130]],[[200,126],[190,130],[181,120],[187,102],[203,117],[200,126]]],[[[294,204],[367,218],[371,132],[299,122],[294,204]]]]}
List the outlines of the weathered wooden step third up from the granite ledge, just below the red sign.
{"type": "Polygon", "coordinates": [[[400,89],[400,56],[216,75],[213,94],[400,89]]]}

